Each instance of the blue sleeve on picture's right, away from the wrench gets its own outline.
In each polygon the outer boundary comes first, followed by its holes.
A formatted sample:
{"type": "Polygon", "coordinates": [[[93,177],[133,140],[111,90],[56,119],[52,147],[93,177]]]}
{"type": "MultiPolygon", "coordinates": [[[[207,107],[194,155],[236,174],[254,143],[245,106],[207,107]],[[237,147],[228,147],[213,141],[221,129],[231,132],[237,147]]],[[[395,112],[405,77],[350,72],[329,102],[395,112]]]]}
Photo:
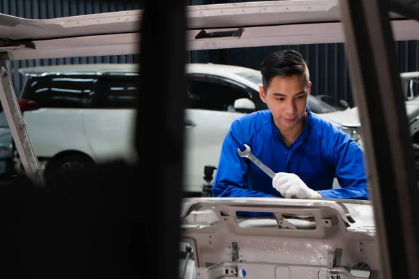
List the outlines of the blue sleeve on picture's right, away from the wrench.
{"type": "Polygon", "coordinates": [[[330,160],[335,167],[335,177],[341,188],[320,190],[328,199],[369,199],[364,152],[345,133],[336,133],[331,144],[330,160]]]}

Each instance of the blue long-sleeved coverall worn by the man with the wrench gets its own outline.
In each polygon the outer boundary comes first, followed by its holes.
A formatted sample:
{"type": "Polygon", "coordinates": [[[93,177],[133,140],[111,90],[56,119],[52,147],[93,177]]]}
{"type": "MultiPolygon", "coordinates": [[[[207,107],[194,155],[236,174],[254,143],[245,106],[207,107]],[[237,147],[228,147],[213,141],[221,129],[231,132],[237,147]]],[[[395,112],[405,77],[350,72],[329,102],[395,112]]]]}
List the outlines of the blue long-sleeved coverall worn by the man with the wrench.
{"type": "Polygon", "coordinates": [[[332,123],[307,108],[304,129],[287,147],[269,110],[236,119],[221,148],[213,197],[282,197],[272,178],[238,155],[244,144],[273,172],[291,172],[323,198],[369,199],[362,149],[332,123]],[[337,177],[341,188],[332,189],[337,177]]]}

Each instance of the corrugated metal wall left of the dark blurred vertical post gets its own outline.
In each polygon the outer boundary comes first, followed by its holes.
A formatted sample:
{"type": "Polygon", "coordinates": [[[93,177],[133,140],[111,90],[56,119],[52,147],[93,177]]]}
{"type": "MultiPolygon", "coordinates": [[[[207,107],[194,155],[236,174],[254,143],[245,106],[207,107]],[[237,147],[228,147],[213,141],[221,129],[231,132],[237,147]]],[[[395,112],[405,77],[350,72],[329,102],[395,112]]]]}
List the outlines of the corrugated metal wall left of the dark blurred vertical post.
{"type": "MultiPolygon", "coordinates": [[[[139,2],[123,3],[122,1],[110,0],[1,0],[0,13],[34,20],[45,20],[71,15],[89,15],[92,13],[108,13],[119,10],[138,10],[144,8],[140,6],[139,2]]],[[[19,93],[23,83],[22,75],[17,73],[17,69],[19,68],[70,63],[132,63],[134,59],[135,56],[133,55],[119,55],[13,61],[12,67],[15,71],[13,84],[16,93],[19,93]]]]}

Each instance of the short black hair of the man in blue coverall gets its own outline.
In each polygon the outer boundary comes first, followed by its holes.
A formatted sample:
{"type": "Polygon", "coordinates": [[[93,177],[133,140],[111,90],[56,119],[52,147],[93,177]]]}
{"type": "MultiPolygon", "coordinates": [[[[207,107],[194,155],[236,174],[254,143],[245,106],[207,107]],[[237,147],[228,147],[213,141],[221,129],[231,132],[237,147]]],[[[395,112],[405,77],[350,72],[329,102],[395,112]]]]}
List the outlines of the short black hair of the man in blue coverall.
{"type": "Polygon", "coordinates": [[[270,82],[278,75],[291,77],[292,75],[303,75],[304,82],[309,83],[309,68],[304,58],[295,50],[279,50],[266,57],[262,62],[260,73],[265,90],[270,82]]]}

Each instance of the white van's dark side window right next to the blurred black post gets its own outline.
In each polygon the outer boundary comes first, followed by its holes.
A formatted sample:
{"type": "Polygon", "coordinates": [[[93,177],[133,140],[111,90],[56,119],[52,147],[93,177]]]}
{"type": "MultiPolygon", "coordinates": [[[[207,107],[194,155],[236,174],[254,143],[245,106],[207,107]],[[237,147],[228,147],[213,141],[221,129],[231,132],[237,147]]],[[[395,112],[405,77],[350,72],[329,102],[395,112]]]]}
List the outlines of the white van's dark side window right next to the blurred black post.
{"type": "Polygon", "coordinates": [[[98,77],[98,108],[133,108],[138,95],[138,75],[106,74],[98,77]]]}

